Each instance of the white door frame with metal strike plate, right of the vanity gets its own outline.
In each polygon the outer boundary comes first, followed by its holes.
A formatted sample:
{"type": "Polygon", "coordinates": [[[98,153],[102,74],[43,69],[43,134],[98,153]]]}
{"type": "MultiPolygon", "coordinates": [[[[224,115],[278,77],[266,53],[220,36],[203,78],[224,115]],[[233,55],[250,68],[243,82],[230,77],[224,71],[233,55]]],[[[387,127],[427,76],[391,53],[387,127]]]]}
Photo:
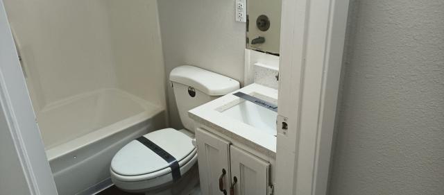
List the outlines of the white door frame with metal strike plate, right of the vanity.
{"type": "Polygon", "coordinates": [[[327,194],[347,15],[348,0],[282,0],[278,195],[327,194]]]}

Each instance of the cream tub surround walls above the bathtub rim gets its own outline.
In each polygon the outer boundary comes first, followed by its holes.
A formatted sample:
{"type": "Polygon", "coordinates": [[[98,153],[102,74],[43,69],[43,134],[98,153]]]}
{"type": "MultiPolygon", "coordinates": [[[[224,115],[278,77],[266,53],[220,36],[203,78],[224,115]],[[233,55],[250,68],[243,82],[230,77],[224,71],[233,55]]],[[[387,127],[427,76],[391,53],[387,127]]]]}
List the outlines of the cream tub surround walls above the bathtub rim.
{"type": "Polygon", "coordinates": [[[5,0],[36,111],[106,87],[166,105],[155,0],[5,0]]]}

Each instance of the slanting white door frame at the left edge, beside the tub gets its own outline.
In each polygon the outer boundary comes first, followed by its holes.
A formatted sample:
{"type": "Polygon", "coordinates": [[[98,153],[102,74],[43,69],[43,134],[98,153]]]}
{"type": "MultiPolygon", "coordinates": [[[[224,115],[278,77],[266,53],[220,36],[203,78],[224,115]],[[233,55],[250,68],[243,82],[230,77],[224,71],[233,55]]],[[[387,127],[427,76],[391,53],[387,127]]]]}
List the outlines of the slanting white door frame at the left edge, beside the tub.
{"type": "MultiPolygon", "coordinates": [[[[12,137],[13,146],[23,170],[23,176],[11,180],[26,180],[29,194],[56,195],[49,162],[46,158],[40,131],[35,122],[31,99],[20,67],[15,44],[12,39],[6,10],[0,0],[0,112],[6,124],[0,124],[1,133],[12,137]]],[[[1,150],[1,149],[0,149],[1,150]]],[[[0,164],[8,166],[8,164],[0,164]]],[[[11,186],[14,190],[14,187],[11,186]]],[[[6,189],[3,189],[6,190],[6,189]]],[[[2,194],[2,189],[0,189],[2,194]]]]}

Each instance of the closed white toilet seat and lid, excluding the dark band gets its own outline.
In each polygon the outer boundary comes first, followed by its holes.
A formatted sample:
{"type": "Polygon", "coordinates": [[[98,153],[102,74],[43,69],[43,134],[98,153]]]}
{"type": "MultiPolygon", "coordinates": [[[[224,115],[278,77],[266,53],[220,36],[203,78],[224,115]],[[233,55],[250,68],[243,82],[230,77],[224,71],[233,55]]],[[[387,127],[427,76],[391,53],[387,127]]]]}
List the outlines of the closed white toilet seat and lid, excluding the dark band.
{"type": "MultiPolygon", "coordinates": [[[[167,151],[179,164],[183,176],[196,164],[197,149],[191,137],[173,128],[165,128],[144,135],[167,151]]],[[[114,184],[128,190],[155,187],[173,181],[170,164],[137,140],[133,140],[114,155],[111,176],[114,184]]]]}

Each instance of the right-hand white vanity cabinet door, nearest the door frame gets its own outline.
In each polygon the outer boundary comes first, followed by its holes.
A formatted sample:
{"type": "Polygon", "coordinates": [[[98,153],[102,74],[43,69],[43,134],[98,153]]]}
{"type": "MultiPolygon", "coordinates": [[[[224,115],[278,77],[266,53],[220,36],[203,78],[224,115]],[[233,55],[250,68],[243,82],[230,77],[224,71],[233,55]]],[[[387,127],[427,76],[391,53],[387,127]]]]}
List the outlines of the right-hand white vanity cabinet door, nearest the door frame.
{"type": "Polygon", "coordinates": [[[235,195],[266,195],[270,164],[236,146],[230,147],[231,183],[235,195]]]}

